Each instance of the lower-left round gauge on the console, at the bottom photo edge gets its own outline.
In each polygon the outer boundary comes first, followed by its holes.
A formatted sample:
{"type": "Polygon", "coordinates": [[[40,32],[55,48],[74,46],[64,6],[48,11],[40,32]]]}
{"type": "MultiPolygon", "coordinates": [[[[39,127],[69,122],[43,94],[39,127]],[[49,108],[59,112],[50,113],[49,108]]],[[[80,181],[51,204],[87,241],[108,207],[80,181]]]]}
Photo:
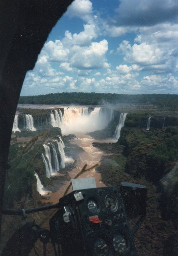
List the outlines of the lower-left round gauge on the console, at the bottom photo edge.
{"type": "Polygon", "coordinates": [[[94,244],[94,256],[110,256],[110,248],[102,238],[98,238],[94,244]]]}

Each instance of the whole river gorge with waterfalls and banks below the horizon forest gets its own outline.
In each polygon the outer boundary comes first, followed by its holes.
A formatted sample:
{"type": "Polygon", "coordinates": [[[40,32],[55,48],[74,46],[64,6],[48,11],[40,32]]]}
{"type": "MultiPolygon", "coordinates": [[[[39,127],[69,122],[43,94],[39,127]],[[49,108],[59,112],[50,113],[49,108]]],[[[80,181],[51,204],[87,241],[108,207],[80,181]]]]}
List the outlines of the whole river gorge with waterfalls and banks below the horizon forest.
{"type": "Polygon", "coordinates": [[[153,107],[19,105],[6,207],[57,203],[82,168],[79,178],[94,177],[98,187],[143,184],[147,217],[135,246],[140,256],[159,256],[178,222],[177,125],[177,112],[153,107]]]}

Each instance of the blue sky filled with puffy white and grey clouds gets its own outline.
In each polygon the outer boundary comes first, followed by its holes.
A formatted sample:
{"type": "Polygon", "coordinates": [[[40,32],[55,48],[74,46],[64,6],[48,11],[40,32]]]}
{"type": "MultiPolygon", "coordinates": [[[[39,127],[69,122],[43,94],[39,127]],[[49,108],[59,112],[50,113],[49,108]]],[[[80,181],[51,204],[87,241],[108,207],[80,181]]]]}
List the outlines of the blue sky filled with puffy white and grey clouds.
{"type": "Polygon", "coordinates": [[[177,0],[75,0],[25,77],[21,96],[178,94],[177,0]]]}

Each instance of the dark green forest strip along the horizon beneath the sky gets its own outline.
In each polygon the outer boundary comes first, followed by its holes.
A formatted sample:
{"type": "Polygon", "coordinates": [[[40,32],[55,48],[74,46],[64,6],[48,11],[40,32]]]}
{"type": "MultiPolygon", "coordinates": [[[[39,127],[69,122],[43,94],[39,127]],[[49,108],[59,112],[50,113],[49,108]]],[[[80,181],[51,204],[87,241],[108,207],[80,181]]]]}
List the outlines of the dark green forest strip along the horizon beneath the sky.
{"type": "Polygon", "coordinates": [[[116,94],[96,92],[62,92],[37,96],[21,96],[19,104],[151,104],[169,110],[178,109],[175,94],[116,94]]]}

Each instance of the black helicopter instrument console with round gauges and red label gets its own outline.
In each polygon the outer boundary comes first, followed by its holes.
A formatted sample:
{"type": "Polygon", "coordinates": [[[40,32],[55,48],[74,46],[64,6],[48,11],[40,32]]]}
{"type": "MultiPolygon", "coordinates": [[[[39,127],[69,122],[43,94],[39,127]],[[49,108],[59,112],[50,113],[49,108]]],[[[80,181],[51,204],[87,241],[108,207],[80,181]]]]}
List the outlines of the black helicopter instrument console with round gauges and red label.
{"type": "Polygon", "coordinates": [[[134,256],[119,186],[76,190],[59,201],[51,240],[62,256],[134,256]]]}

